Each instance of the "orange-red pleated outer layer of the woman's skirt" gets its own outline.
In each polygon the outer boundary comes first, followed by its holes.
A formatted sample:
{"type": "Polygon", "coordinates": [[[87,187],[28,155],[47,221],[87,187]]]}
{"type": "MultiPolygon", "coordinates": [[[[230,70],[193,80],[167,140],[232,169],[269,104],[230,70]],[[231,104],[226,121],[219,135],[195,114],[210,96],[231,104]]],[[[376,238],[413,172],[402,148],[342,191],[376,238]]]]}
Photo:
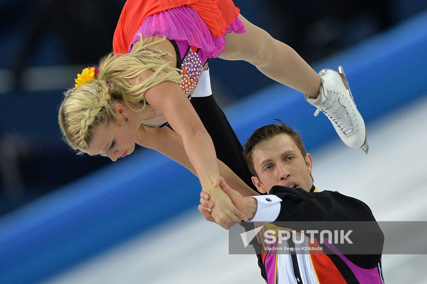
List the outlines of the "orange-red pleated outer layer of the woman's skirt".
{"type": "Polygon", "coordinates": [[[199,14],[212,38],[224,35],[225,29],[240,13],[232,0],[127,0],[114,32],[114,54],[128,52],[132,38],[146,17],[183,5],[199,14]]]}

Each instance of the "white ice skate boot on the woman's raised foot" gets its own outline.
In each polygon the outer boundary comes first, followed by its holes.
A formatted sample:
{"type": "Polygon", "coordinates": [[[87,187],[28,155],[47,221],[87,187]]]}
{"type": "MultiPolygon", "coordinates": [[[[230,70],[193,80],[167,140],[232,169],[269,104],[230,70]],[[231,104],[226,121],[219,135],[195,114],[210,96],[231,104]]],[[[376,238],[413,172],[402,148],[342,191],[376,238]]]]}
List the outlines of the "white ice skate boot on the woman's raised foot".
{"type": "Polygon", "coordinates": [[[342,142],[351,148],[362,148],[368,154],[365,122],[356,108],[342,66],[339,66],[338,70],[339,72],[322,69],[319,72],[322,81],[319,97],[316,99],[307,95],[304,97],[317,107],[315,116],[320,111],[328,116],[342,142]]]}

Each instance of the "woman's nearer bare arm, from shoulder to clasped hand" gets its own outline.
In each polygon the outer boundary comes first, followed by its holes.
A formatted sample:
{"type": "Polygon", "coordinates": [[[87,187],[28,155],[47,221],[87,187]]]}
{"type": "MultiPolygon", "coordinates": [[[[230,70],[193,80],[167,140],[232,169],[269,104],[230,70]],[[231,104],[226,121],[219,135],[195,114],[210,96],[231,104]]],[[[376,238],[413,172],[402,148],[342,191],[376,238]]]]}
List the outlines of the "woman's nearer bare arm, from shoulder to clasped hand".
{"type": "MultiPolygon", "coordinates": [[[[159,39],[161,38],[153,36],[144,40],[144,43],[154,41],[154,45],[151,45],[151,48],[167,52],[162,58],[171,67],[176,67],[176,53],[172,43],[166,40],[156,41],[159,39]]],[[[135,43],[134,46],[139,44],[135,43]]],[[[139,52],[140,50],[142,51],[143,48],[136,47],[132,52],[139,52]]],[[[142,82],[153,74],[153,71],[146,70],[135,79],[137,82],[142,82]]],[[[134,81],[134,79],[130,78],[128,80],[131,84],[134,81]]],[[[216,207],[212,212],[216,223],[228,229],[230,221],[242,220],[244,214],[234,206],[224,192],[213,186],[213,180],[219,177],[215,148],[213,147],[211,136],[209,136],[181,87],[176,82],[163,81],[146,90],[144,99],[152,107],[161,110],[172,128],[181,136],[184,150],[196,171],[197,177],[199,177],[202,189],[211,195],[213,202],[216,200],[221,201],[221,208],[216,207]]]]}

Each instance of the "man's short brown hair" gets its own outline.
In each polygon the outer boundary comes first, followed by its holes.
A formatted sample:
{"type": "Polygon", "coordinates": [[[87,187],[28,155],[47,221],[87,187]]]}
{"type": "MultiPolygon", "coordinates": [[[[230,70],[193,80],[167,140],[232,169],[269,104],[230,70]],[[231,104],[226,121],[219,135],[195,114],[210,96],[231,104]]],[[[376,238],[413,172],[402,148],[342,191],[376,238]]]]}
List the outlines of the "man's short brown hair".
{"type": "Polygon", "coordinates": [[[252,160],[252,153],[254,153],[255,147],[259,143],[269,140],[276,135],[279,135],[279,134],[289,135],[297,145],[303,158],[305,159],[305,156],[307,156],[307,151],[305,151],[305,147],[304,147],[304,144],[302,143],[301,136],[295,130],[293,130],[289,125],[284,124],[284,122],[281,121],[280,119],[275,119],[275,120],[280,122],[281,124],[269,124],[256,129],[252,133],[251,137],[249,137],[246,140],[246,143],[244,145],[245,150],[243,151],[243,156],[245,157],[246,164],[248,165],[249,170],[255,177],[258,177],[258,174],[255,171],[254,162],[252,160]]]}

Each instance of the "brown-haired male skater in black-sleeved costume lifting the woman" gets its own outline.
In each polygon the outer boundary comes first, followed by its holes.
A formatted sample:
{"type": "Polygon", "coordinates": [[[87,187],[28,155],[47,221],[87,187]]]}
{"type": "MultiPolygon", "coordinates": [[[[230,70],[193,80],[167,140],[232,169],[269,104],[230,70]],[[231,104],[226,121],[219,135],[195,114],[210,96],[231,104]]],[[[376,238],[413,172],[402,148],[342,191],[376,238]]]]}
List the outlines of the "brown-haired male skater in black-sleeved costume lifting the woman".
{"type": "MultiPolygon", "coordinates": [[[[317,191],[311,176],[313,159],[306,152],[301,136],[283,122],[255,130],[243,154],[253,174],[252,182],[267,195],[242,197],[222,178],[217,183],[250,221],[272,223],[266,224],[267,227],[283,226],[279,221],[375,221],[362,201],[336,191],[317,191]]],[[[204,195],[202,191],[203,198],[204,195]]],[[[201,202],[200,212],[212,220],[207,209],[214,204],[205,199],[201,202]]],[[[384,236],[374,224],[364,238],[375,241],[381,251],[384,236]]],[[[287,245],[295,246],[291,240],[287,245]]],[[[322,249],[325,253],[265,253],[266,282],[383,283],[381,254],[344,255],[325,245],[322,249]]]]}

